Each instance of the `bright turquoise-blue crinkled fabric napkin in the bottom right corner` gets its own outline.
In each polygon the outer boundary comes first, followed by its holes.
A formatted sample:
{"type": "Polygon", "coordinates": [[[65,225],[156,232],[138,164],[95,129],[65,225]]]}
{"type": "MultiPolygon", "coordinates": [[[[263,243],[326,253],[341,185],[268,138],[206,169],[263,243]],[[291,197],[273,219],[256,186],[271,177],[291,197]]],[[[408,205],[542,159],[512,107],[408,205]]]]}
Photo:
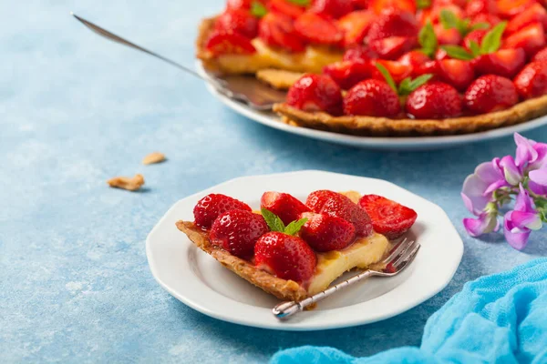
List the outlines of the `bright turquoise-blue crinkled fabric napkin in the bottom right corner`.
{"type": "Polygon", "coordinates": [[[272,363],[547,363],[547,258],[467,283],[428,319],[420,348],[354,358],[305,346],[272,363]]]}

